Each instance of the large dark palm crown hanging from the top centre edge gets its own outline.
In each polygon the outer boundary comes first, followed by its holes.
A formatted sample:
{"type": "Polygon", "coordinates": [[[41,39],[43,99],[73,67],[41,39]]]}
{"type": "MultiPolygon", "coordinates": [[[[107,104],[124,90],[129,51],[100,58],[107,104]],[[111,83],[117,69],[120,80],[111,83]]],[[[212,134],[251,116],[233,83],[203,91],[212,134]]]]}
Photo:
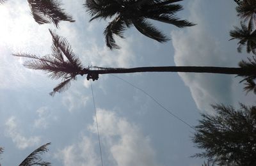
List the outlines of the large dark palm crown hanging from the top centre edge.
{"type": "Polygon", "coordinates": [[[84,6],[95,19],[111,19],[104,30],[106,45],[109,49],[120,49],[115,42],[114,34],[124,38],[125,29],[132,25],[140,33],[159,42],[169,40],[148,19],[173,24],[177,27],[194,26],[187,20],[180,20],[175,13],[182,10],[180,4],[172,4],[182,0],[86,0],[84,6]]]}

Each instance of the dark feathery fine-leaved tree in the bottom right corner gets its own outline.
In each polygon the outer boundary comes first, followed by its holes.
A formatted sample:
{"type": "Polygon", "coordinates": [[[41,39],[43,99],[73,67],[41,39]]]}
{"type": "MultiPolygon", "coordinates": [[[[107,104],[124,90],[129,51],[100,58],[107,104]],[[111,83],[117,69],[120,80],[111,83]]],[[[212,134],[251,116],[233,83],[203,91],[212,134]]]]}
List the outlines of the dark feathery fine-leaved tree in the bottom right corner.
{"type": "Polygon", "coordinates": [[[204,152],[194,157],[209,158],[219,165],[256,165],[256,107],[241,109],[213,105],[214,116],[201,114],[193,143],[204,152]]]}

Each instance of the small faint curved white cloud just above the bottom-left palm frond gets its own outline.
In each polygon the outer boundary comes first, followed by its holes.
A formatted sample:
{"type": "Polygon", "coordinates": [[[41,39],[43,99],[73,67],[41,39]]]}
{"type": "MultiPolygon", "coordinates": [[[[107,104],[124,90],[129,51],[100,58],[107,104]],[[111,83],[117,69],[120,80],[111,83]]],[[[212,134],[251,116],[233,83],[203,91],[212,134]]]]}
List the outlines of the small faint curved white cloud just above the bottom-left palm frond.
{"type": "Polygon", "coordinates": [[[40,137],[25,137],[18,128],[15,117],[10,117],[6,123],[6,136],[10,137],[19,149],[32,147],[40,142],[40,137]]]}

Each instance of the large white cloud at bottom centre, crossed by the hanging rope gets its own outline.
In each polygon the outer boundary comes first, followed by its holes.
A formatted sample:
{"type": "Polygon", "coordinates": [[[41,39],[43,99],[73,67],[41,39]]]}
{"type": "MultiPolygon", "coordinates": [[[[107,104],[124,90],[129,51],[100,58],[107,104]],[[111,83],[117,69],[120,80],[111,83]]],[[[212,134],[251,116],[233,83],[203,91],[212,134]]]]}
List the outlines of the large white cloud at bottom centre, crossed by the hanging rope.
{"type": "MultiPolygon", "coordinates": [[[[108,154],[108,158],[104,158],[105,163],[122,166],[159,165],[150,139],[141,133],[138,126],[116,116],[114,112],[102,109],[97,110],[97,119],[102,152],[104,156],[108,154]]],[[[94,117],[94,123],[89,125],[88,129],[97,134],[95,124],[94,117]]],[[[79,144],[65,147],[56,157],[62,160],[64,165],[100,165],[96,162],[100,161],[100,156],[95,153],[95,149],[99,148],[97,146],[96,140],[83,135],[79,144]]]]}

